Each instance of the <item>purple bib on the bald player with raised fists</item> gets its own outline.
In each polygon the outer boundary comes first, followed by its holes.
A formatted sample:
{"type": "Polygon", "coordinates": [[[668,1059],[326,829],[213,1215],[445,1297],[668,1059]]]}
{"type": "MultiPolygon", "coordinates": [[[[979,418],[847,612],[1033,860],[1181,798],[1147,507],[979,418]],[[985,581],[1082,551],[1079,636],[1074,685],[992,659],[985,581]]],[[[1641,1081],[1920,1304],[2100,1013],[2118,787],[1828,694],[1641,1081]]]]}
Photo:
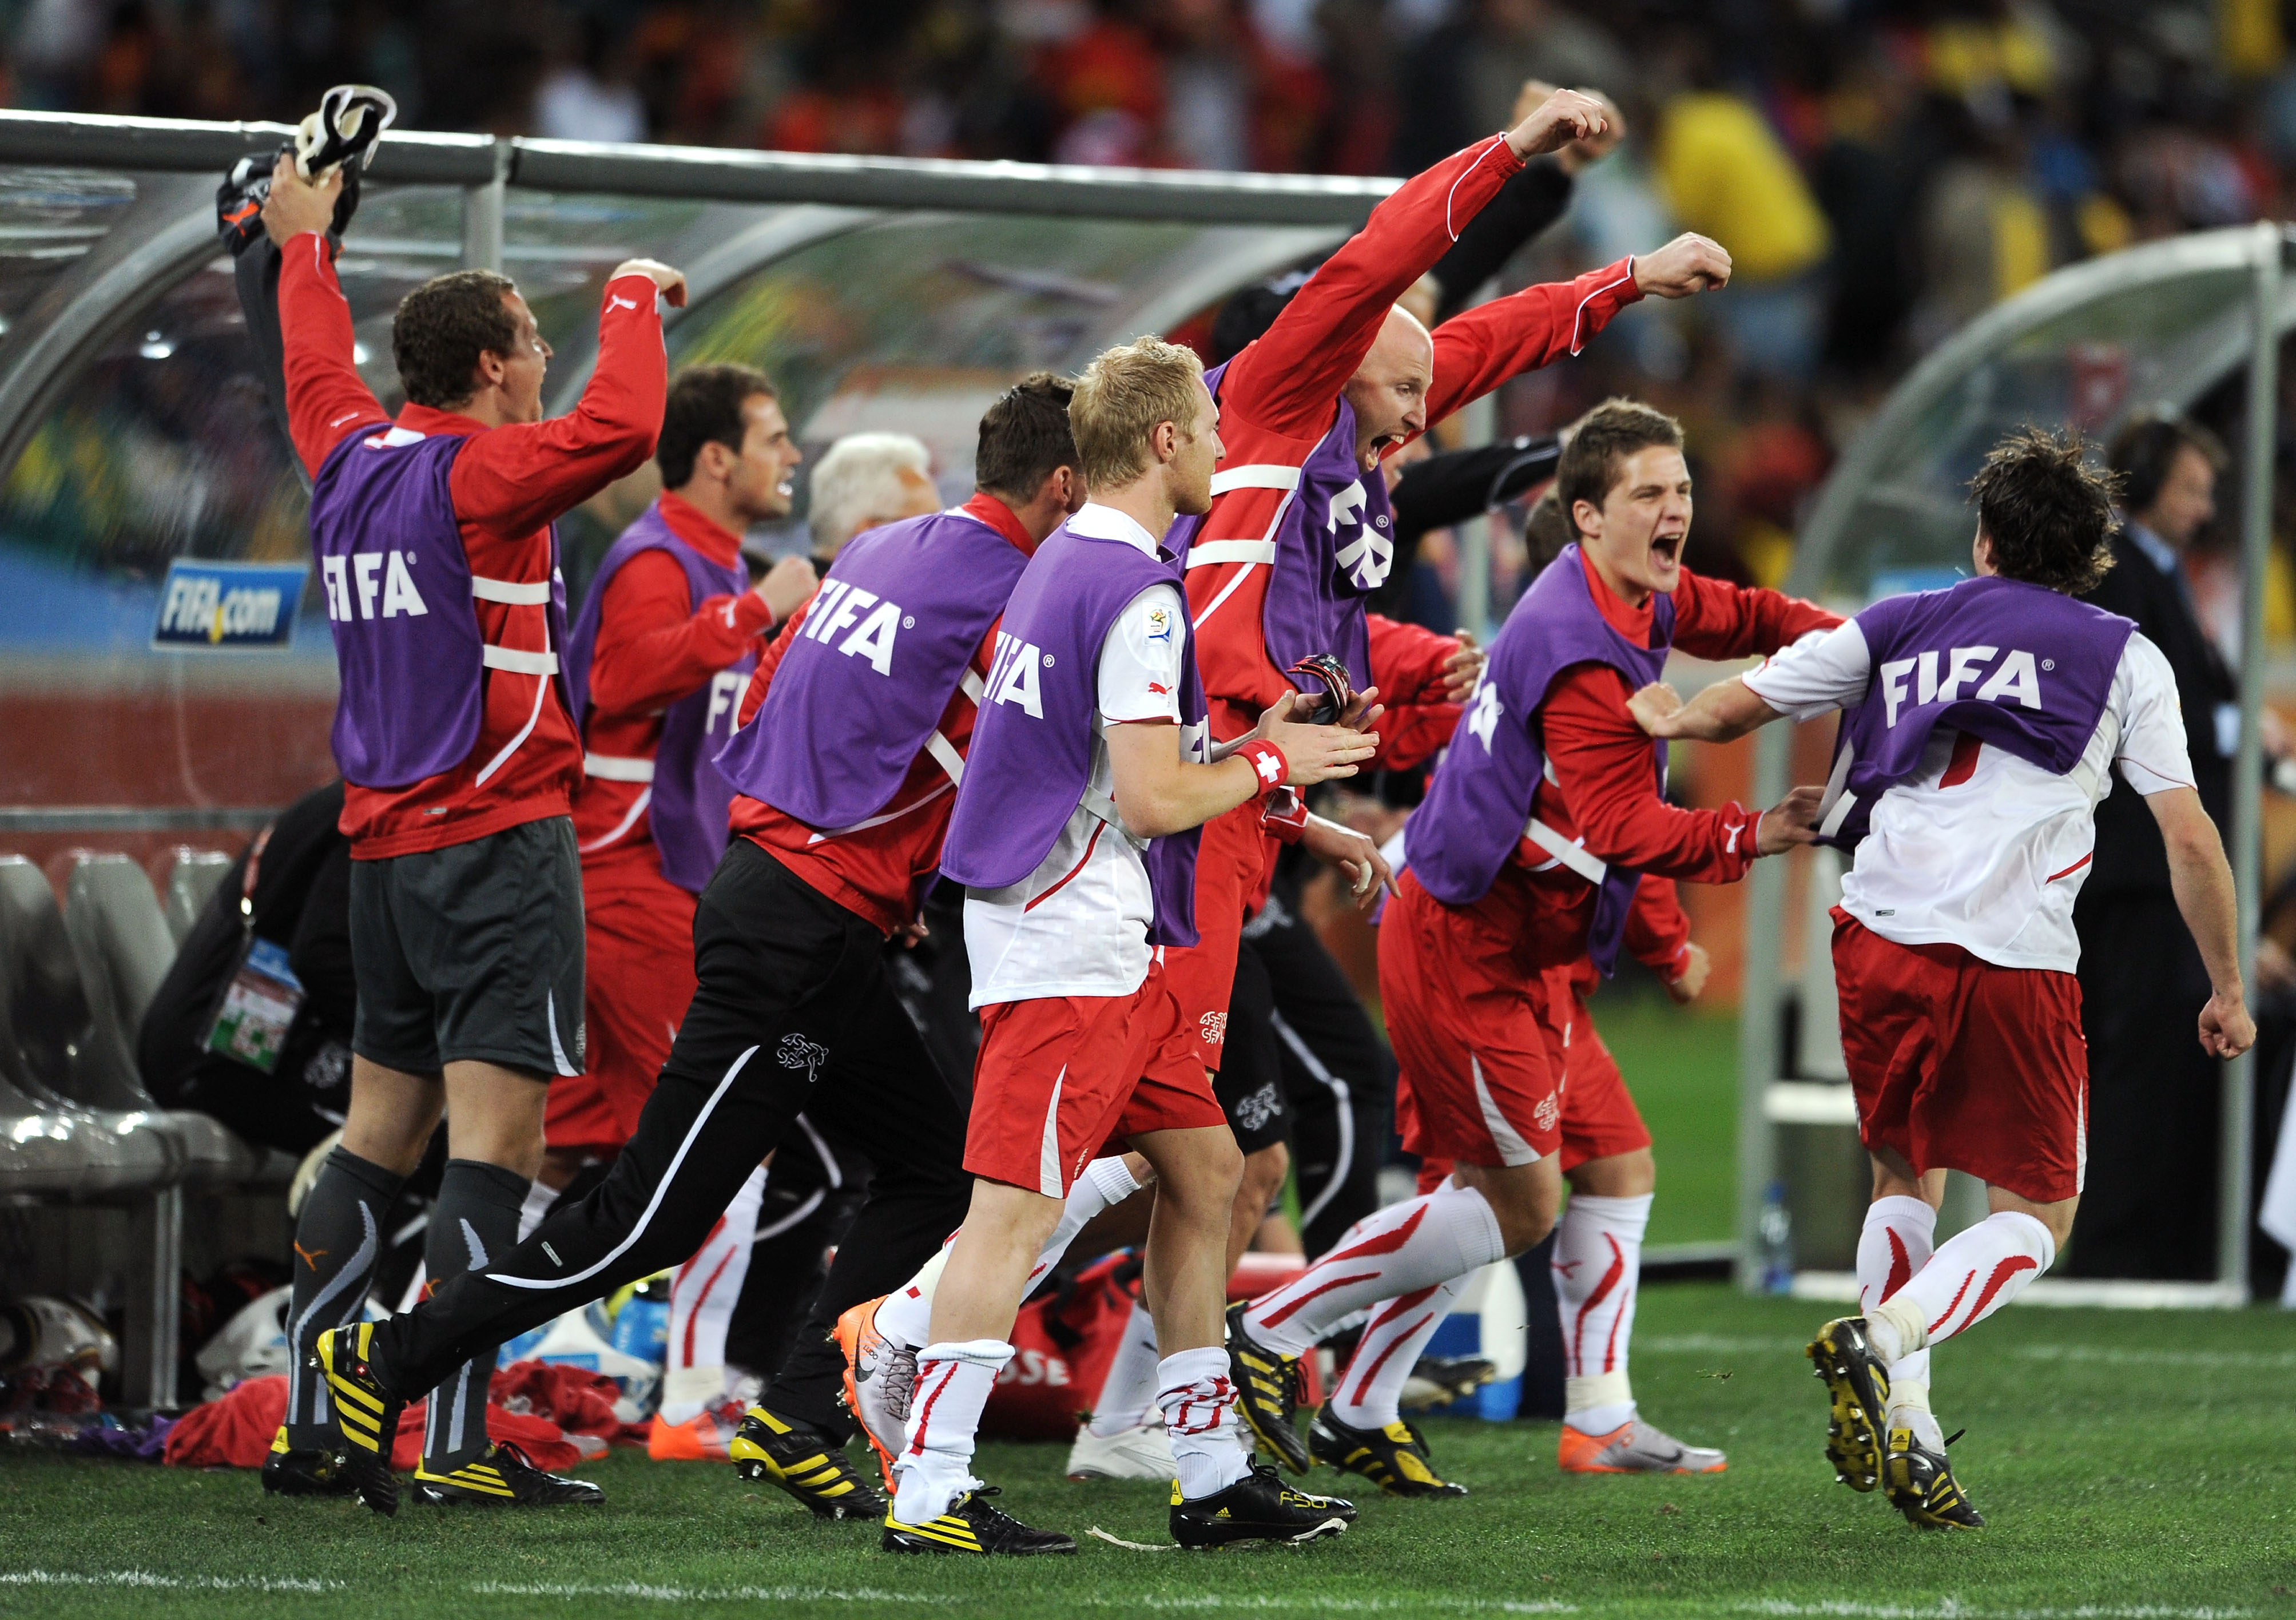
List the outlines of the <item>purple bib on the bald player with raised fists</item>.
{"type": "MultiPolygon", "coordinates": [[[[1226,365],[1203,374],[1205,388],[1219,397],[1226,365]]],[[[1396,560],[1396,516],[1387,503],[1387,480],[1364,473],[1355,461],[1355,408],[1341,399],[1339,420],[1318,441],[1309,459],[1295,468],[1251,466],[1224,468],[1212,475],[1212,493],[1247,486],[1254,480],[1290,484],[1290,496],[1277,514],[1265,542],[1215,542],[1224,546],[1261,546],[1270,564],[1267,601],[1261,610],[1261,633],[1267,656],[1279,670],[1302,659],[1329,652],[1348,665],[1357,686],[1371,684],[1371,631],[1364,622],[1364,599],[1387,583],[1396,560]],[[1290,480],[1297,482],[1290,482],[1290,480]]],[[[1233,555],[1199,558],[1189,553],[1201,516],[1173,523],[1164,546],[1199,562],[1233,562],[1233,555]]],[[[1288,677],[1300,684],[1300,677],[1288,677]]],[[[1304,682],[1302,691],[1320,691],[1304,682]]],[[[1226,741],[1226,739],[1224,739],[1226,741]]]]}

